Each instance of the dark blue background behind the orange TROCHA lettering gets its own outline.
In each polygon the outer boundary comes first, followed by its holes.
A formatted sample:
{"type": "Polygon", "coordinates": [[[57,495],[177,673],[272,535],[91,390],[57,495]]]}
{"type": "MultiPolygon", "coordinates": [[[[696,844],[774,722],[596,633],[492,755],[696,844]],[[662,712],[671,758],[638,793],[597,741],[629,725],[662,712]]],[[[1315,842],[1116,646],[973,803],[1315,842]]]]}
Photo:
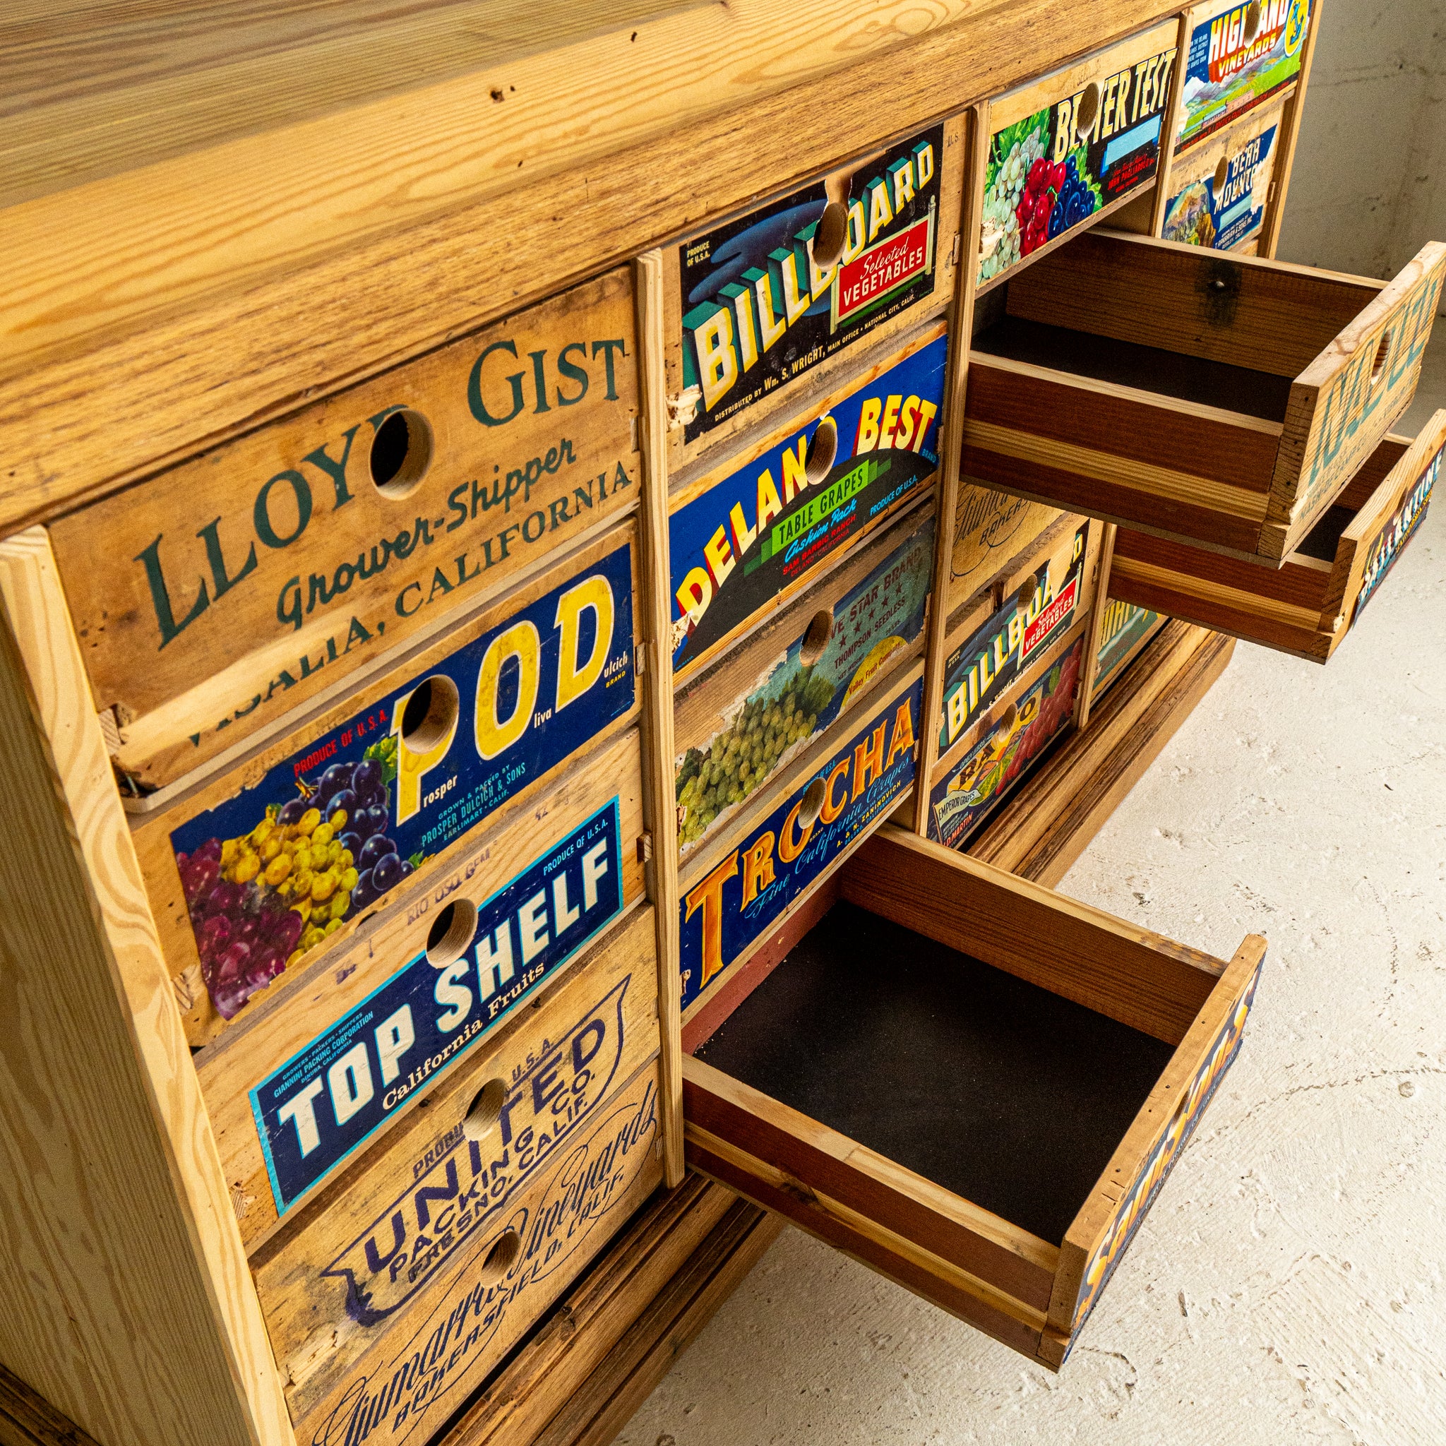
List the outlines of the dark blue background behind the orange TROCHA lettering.
{"type": "MultiPolygon", "coordinates": [[[[910,722],[914,729],[917,748],[923,697],[924,683],[920,680],[902,693],[897,693],[892,698],[889,698],[889,701],[873,713],[869,722],[813,775],[813,778],[804,782],[798,791],[782,803],[772,814],[769,814],[763,823],[749,831],[748,837],[739,846],[739,853],[746,850],[765,833],[772,831],[777,839],[794,804],[798,803],[798,800],[808,791],[808,785],[814,781],[814,778],[823,778],[827,781],[829,774],[840,762],[843,762],[843,759],[849,759],[852,768],[855,748],[865,742],[865,739],[868,739],[868,736],[881,723],[889,729],[885,735],[885,745],[892,740],[891,724],[894,722],[894,714],[898,711],[899,704],[905,700],[908,701],[910,722]]],[[[915,748],[908,749],[897,758],[894,761],[894,766],[885,769],[882,778],[870,779],[869,787],[857,800],[855,800],[850,792],[849,804],[833,823],[824,823],[820,818],[818,823],[814,824],[813,837],[800,852],[798,857],[791,863],[785,863],[778,856],[775,844],[774,882],[768,888],[762,889],[758,898],[755,898],[746,910],[740,908],[743,897],[742,876],[735,875],[723,884],[724,963],[723,967],[709,980],[710,986],[716,980],[724,977],[737,956],[755,938],[758,938],[758,936],[763,933],[763,930],[768,928],[768,925],[778,918],[778,915],[782,914],[782,911],[795,898],[798,898],[798,895],[839,856],[840,850],[853,843],[853,840],[865,827],[868,827],[869,823],[878,818],[886,808],[894,805],[899,794],[902,794],[914,781],[915,748]]],[[[849,787],[850,790],[853,787],[852,774],[849,777],[849,787]]],[[[696,886],[697,882],[694,884],[694,888],[696,886]]],[[[678,947],[678,956],[680,967],[683,970],[683,1004],[688,1005],[703,989],[703,910],[697,910],[690,920],[687,901],[687,894],[690,891],[684,889],[683,892],[684,897],[678,904],[678,920],[683,936],[678,947]]]]}

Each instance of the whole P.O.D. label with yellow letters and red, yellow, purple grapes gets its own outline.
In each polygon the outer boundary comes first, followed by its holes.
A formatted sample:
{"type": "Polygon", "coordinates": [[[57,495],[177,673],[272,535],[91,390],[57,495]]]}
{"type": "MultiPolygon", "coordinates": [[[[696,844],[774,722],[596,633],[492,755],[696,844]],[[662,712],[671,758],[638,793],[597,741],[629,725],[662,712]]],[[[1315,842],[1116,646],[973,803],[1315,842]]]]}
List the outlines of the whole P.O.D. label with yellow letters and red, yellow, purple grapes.
{"type": "Polygon", "coordinates": [[[628,713],[632,646],[623,545],[174,830],[221,1018],[628,713]]]}

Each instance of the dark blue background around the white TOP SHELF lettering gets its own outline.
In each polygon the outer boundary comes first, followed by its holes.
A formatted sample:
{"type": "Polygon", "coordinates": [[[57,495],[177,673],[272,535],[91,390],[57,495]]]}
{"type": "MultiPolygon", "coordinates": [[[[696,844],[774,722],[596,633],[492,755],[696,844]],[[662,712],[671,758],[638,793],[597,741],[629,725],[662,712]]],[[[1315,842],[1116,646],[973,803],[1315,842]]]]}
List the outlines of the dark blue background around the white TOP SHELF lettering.
{"type": "MultiPolygon", "coordinates": [[[[256,1121],[262,1152],[266,1157],[266,1171],[276,1200],[276,1213],[285,1215],[304,1192],[330,1174],[414,1093],[435,1084],[447,1069],[489,1032],[492,1025],[506,1018],[544,979],[565,964],[590,938],[617,918],[622,908],[622,847],[617,800],[615,798],[479,905],[477,928],[463,959],[474,960],[476,947],[483,938],[490,938],[495,930],[508,928],[512,934],[515,972],[505,982],[506,988],[499,986],[495,977],[480,979],[476,966],[461,975],[458,982],[471,991],[471,1004],[469,1012],[457,1021],[454,1028],[444,1032],[438,1028],[437,1021],[451,1011],[448,1005],[438,1004],[434,996],[442,970],[432,967],[425,953],[416,954],[386,983],[347,1011],[335,1024],[318,1034],[311,1044],[250,1090],[252,1115],[256,1121]],[[593,908],[584,910],[580,878],[581,857],[599,842],[606,844],[607,873],[599,881],[597,902],[593,908]],[[580,911],[580,917],[557,933],[551,927],[551,904],[552,881],[560,872],[567,873],[568,902],[580,911]],[[513,918],[519,905],[539,891],[547,894],[548,941],[539,954],[523,964],[513,918]],[[486,989],[482,988],[483,983],[486,983],[486,989]],[[403,1004],[411,1005],[415,1043],[399,1060],[401,1076],[390,1083],[383,1083],[375,1031],[403,1004]],[[333,1063],[359,1043],[367,1045],[373,1095],[346,1124],[337,1125],[325,1089],[325,1074],[333,1063]],[[451,1053],[438,1069],[422,1074],[424,1063],[441,1050],[451,1050],[451,1053]],[[279,1111],[304,1086],[318,1077],[322,1080],[322,1090],[312,1100],[312,1112],[321,1138],[309,1154],[302,1155],[295,1124],[289,1119],[281,1119],[279,1111]],[[390,1106],[386,1106],[385,1100],[389,1095],[396,1095],[396,1098],[390,1106]]],[[[490,973],[489,970],[489,976],[490,973]]]]}

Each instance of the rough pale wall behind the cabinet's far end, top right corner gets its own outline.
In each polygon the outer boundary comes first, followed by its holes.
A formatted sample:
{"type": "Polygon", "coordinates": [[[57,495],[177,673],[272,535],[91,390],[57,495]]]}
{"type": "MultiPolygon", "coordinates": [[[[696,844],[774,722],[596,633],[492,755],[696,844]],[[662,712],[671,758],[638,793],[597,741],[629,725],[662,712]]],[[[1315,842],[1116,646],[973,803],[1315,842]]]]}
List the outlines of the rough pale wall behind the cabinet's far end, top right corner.
{"type": "Polygon", "coordinates": [[[1446,240],[1446,3],[1323,0],[1278,254],[1390,276],[1446,240]]]}

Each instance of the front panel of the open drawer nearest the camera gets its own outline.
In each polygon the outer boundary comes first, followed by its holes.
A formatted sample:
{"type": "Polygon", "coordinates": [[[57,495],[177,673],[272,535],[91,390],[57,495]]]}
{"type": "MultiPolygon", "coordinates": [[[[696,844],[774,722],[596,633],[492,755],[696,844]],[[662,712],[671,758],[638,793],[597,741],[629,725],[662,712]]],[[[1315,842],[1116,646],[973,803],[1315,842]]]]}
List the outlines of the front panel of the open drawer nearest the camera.
{"type": "MultiPolygon", "coordinates": [[[[1056,1335],[1041,1351],[1077,1335],[1235,1061],[1264,959],[1265,940],[1248,934],[1070,1225],[1050,1301],[1056,1335]]],[[[1066,1345],[1048,1364],[1061,1365],[1067,1355],[1066,1345]]]]}

